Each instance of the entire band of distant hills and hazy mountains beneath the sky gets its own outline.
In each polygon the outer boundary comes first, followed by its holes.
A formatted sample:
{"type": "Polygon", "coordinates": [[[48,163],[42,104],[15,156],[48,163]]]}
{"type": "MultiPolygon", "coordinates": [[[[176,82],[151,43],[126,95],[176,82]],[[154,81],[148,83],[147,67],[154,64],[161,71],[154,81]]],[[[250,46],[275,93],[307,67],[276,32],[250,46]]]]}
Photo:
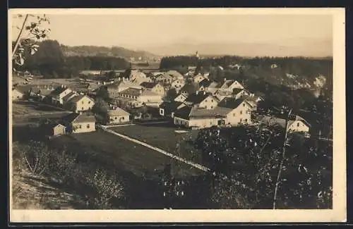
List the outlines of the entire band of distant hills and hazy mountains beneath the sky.
{"type": "Polygon", "coordinates": [[[200,56],[333,56],[333,44],[327,40],[291,40],[287,43],[246,43],[246,42],[214,42],[202,43],[183,40],[164,45],[145,44],[133,50],[124,47],[97,47],[62,45],[65,56],[116,56],[131,61],[152,61],[162,56],[192,55],[198,51],[200,56]],[[142,51],[143,50],[143,51],[142,51]]]}

